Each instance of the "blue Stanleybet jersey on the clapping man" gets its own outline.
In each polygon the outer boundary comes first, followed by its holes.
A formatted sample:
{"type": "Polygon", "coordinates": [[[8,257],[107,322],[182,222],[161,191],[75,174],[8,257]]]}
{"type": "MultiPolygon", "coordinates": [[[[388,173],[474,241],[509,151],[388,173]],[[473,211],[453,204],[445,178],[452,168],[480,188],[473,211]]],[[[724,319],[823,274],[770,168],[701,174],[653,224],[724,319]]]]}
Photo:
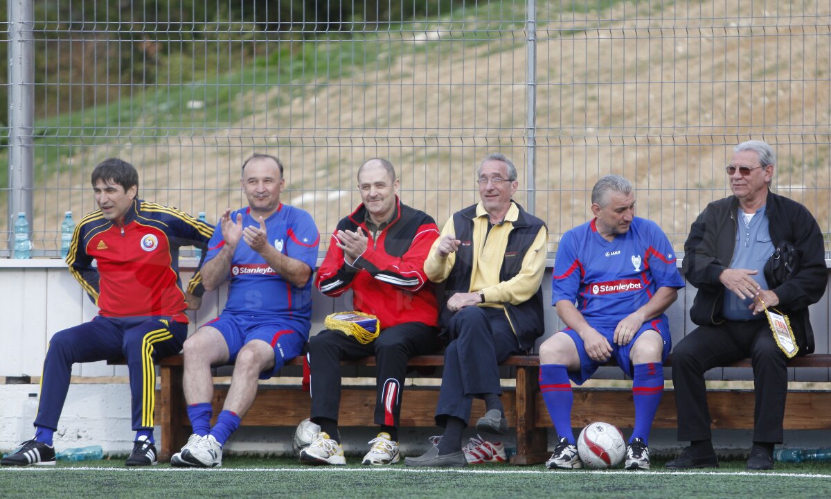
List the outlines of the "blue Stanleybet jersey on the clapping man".
{"type": "MultiPolygon", "coordinates": [[[[250,214],[250,208],[232,212],[231,220],[236,220],[238,213],[243,215],[243,227],[259,227],[259,220],[255,220],[250,214]]],[[[265,220],[265,226],[269,243],[279,252],[302,261],[312,272],[314,271],[320,235],[312,215],[299,208],[281,204],[278,210],[265,220]]],[[[222,250],[223,245],[222,225],[217,224],[208,245],[205,262],[213,259],[219,250],[222,250]]],[[[275,272],[244,239],[239,240],[234,251],[228,278],[231,283],[224,311],[270,315],[286,320],[297,319],[301,324],[310,324],[313,279],[308,279],[305,286],[297,288],[275,272]]]]}

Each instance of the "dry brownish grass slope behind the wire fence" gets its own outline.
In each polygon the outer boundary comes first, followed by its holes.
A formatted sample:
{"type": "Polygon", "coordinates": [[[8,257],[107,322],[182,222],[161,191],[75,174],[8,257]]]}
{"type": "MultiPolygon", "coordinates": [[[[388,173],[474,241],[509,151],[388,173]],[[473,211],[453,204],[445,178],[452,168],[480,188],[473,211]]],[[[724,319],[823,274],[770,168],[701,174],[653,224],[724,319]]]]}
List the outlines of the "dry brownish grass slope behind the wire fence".
{"type": "MultiPolygon", "coordinates": [[[[638,215],[656,220],[680,249],[694,217],[728,193],[730,146],[750,137],[776,145],[777,190],[831,231],[831,3],[708,0],[650,11],[652,3],[538,23],[534,209],[548,221],[550,250],[588,220],[589,190],[607,173],[635,182],[638,215]]],[[[228,129],[97,146],[66,161],[129,157],[147,199],[216,220],[243,204],[242,158],[269,151],[288,165],[285,200],[328,232],[359,202],[353,186],[365,158],[389,157],[402,199],[442,224],[477,200],[478,160],[498,150],[518,165],[525,203],[527,52],[516,39],[522,33],[500,36],[473,43],[439,32],[431,42],[396,42],[399,52],[347,80],[240,94],[241,105],[263,111],[228,129]]],[[[86,189],[86,175],[52,180],[86,189]]],[[[72,196],[73,209],[91,209],[88,197],[81,205],[72,196]]]]}

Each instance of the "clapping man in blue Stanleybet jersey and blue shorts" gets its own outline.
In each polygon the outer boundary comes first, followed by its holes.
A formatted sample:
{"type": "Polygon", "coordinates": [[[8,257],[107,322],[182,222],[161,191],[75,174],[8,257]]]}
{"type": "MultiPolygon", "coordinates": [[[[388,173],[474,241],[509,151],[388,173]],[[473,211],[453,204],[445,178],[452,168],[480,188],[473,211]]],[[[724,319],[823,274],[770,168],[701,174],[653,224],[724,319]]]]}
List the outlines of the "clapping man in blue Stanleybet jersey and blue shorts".
{"type": "Polygon", "coordinates": [[[202,266],[205,289],[230,280],[219,317],[184,342],[184,398],[193,434],[170,464],[216,467],[222,448],[251,407],[258,378],[268,379],[303,351],[312,318],[312,272],[320,235],[312,215],[283,205],[283,164],[254,154],[243,163],[248,207],[226,210],[202,266]],[[212,366],[234,363],[214,427],[212,366]]]}

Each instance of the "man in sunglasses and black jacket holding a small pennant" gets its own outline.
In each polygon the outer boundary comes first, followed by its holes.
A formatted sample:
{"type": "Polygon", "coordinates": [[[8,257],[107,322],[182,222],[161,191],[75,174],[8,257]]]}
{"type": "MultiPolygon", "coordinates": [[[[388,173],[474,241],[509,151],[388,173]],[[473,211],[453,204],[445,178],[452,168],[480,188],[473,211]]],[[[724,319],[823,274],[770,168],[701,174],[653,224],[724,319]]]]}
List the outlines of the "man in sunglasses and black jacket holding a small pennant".
{"type": "MultiPolygon", "coordinates": [[[[755,413],[748,469],[772,469],[774,444],[782,442],[788,371],[765,319],[765,308],[788,315],[799,354],[814,351],[808,306],[826,284],[823,235],[803,205],[770,192],[776,156],[762,141],[735,146],[727,166],[733,195],[707,205],[684,245],[684,274],[698,288],[690,309],[698,324],[672,354],[678,439],[690,441],[666,467],[718,467],[711,442],[704,373],[740,358],[753,362],[755,413]],[[796,250],[796,268],[784,282],[765,264],[785,242],[796,250]]],[[[770,265],[768,265],[770,267],[770,265]]]]}

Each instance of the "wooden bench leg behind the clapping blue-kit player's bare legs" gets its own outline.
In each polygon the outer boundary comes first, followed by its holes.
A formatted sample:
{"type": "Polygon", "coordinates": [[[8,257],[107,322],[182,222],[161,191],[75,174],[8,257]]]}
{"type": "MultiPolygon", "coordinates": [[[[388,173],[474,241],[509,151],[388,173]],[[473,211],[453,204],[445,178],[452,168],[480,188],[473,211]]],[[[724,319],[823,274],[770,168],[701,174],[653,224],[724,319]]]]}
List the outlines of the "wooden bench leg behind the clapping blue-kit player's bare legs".
{"type": "Polygon", "coordinates": [[[170,461],[170,456],[184,446],[189,435],[184,430],[184,393],[182,392],[182,366],[161,366],[160,421],[161,448],[160,461],[170,461]]]}

